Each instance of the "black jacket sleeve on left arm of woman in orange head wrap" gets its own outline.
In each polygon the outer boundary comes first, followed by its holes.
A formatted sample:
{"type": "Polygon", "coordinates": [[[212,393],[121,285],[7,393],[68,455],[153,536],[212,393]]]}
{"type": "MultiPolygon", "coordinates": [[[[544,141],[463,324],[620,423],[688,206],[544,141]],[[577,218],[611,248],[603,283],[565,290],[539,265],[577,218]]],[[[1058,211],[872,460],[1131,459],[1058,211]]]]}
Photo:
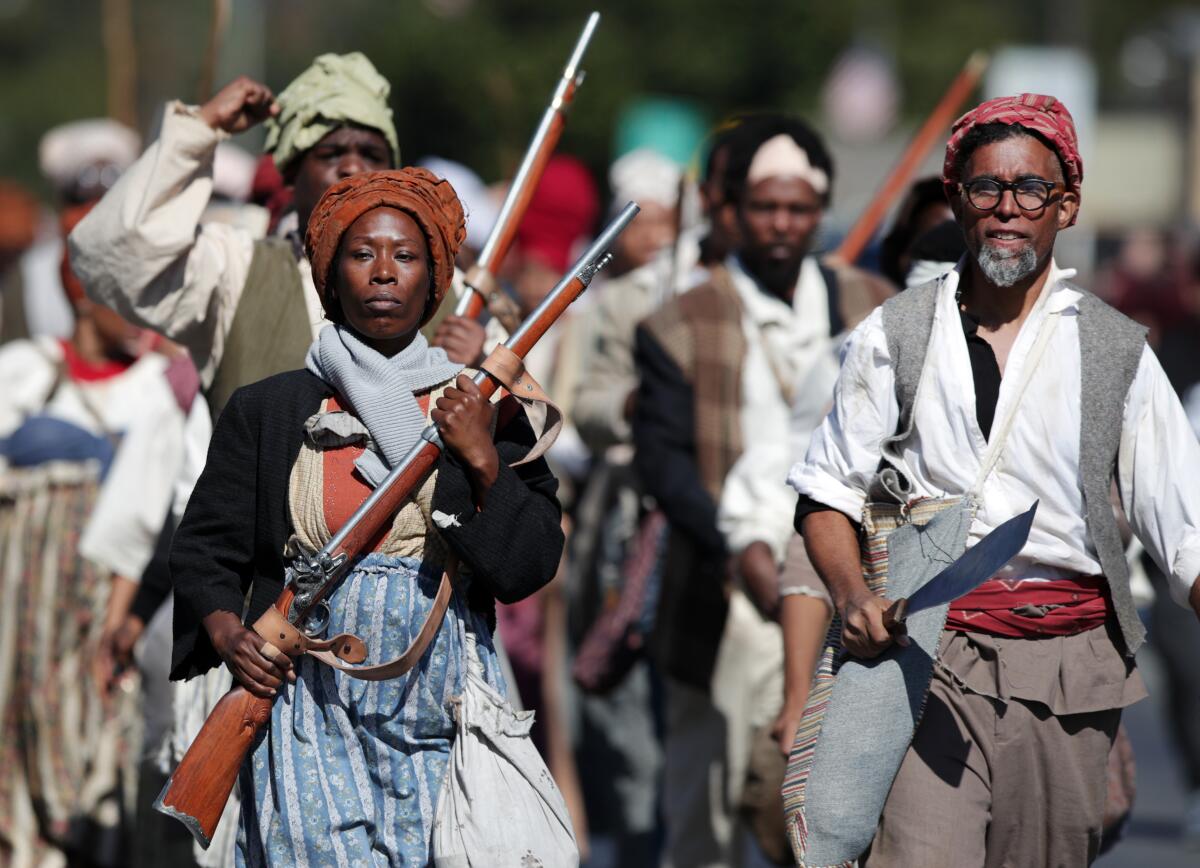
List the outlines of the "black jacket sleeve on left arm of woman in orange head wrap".
{"type": "Polygon", "coordinates": [[[258,425],[248,418],[251,407],[239,390],[221,413],[170,546],[176,659],[198,646],[208,649],[199,623],[205,616],[229,611],[241,617],[253,577],[258,425]]]}

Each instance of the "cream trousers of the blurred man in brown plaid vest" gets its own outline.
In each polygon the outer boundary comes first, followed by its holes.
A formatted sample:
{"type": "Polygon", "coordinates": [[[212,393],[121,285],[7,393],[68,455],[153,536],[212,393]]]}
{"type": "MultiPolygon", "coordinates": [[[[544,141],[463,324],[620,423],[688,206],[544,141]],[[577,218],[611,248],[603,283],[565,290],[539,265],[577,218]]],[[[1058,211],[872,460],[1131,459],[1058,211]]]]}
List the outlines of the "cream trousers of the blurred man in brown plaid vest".
{"type": "Polygon", "coordinates": [[[664,866],[743,864],[738,804],[755,732],[784,701],[784,639],[740,591],[730,613],[709,693],[667,680],[664,866]]]}

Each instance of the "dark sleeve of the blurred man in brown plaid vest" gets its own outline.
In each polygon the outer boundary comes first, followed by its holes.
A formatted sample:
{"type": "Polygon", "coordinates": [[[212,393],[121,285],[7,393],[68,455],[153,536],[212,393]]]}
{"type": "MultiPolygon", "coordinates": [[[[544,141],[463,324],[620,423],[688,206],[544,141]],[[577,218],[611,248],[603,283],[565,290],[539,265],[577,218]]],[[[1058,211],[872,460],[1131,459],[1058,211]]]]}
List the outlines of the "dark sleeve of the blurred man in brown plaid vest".
{"type": "Polygon", "coordinates": [[[696,466],[691,384],[643,328],[634,339],[640,377],[634,406],[635,467],[667,520],[701,550],[725,553],[716,529],[716,503],[696,466]]]}

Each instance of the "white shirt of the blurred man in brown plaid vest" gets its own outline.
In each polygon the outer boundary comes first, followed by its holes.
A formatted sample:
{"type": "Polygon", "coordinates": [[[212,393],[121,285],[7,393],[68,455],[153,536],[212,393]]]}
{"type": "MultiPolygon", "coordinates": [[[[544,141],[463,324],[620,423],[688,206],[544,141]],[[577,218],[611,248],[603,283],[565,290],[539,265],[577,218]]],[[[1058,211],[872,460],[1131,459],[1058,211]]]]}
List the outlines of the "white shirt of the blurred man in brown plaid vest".
{"type": "Polygon", "coordinates": [[[730,551],[763,541],[782,563],[796,513],[796,492],[785,483],[787,468],[808,447],[838,378],[828,289],[812,257],[800,265],[791,305],[760,288],[736,257],[726,267],[742,300],[746,354],[743,451],[721,487],[718,527],[730,551]]]}

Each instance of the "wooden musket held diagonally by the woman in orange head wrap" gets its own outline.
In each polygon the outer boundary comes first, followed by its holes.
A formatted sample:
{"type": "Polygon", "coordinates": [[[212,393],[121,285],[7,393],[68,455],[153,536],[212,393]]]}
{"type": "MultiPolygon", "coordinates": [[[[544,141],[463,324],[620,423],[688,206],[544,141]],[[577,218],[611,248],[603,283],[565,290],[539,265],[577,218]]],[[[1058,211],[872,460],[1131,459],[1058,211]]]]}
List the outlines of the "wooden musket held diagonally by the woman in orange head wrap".
{"type": "MultiPolygon", "coordinates": [[[[533,313],[509,336],[504,346],[514,355],[524,359],[566,307],[587,289],[596,271],[612,257],[610,251],[617,235],[629,226],[637,211],[638,208],[632,202],[625,205],[533,313]]],[[[499,382],[486,371],[480,371],[475,375],[475,385],[485,399],[490,399],[499,388],[499,382]]],[[[428,425],[404,459],[388,473],[320,551],[298,557],[288,568],[287,581],[275,601],[275,609],[304,637],[319,640],[329,623],[325,597],[341,581],[349,559],[368,546],[370,540],[392,520],[409,495],[424,483],[442,454],[442,445],[437,425],[428,425]]],[[[282,633],[280,635],[283,636],[282,633]]],[[[284,653],[284,649],[268,642],[263,652],[268,657],[275,657],[284,653]]],[[[362,657],[365,653],[359,657],[359,662],[362,657]]],[[[238,770],[258,731],[270,720],[271,705],[271,699],[260,699],[244,687],[234,686],[214,707],[155,802],[157,810],[187,826],[200,846],[208,848],[212,840],[217,821],[238,778],[238,770]]]]}

